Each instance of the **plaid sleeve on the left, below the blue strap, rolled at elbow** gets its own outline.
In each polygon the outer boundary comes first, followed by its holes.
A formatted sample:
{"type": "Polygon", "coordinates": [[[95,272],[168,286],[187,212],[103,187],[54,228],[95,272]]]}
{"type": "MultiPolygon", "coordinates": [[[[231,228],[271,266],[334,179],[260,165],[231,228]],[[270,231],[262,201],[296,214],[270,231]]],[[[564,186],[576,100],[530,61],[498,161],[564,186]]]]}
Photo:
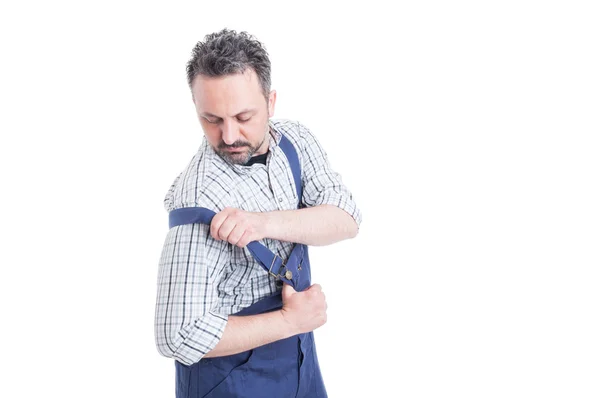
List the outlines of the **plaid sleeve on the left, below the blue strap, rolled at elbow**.
{"type": "Polygon", "coordinates": [[[216,312],[217,286],[229,259],[227,242],[213,239],[209,225],[169,230],[159,263],[154,321],[161,355],[192,365],[217,345],[228,320],[216,312]]]}

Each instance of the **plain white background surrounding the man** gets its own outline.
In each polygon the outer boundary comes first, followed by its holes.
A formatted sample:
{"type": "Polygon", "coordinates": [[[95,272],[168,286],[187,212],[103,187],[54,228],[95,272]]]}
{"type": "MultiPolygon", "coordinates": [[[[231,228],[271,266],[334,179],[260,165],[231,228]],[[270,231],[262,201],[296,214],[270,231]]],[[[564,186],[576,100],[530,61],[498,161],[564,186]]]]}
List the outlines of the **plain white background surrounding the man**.
{"type": "Polygon", "coordinates": [[[0,396],[174,396],[162,201],[223,27],[363,211],[312,249],[330,397],[600,396],[594,2],[282,3],[3,3],[0,396]]]}

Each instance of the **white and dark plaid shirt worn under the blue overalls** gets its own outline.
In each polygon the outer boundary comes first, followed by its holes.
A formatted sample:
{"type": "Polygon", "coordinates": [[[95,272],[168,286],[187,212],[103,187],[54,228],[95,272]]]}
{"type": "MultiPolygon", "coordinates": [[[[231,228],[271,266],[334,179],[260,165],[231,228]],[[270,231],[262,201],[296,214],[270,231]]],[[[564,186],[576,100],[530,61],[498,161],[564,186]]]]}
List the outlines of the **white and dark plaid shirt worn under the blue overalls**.
{"type": "MultiPolygon", "coordinates": [[[[219,212],[235,207],[251,212],[298,207],[294,177],[279,148],[281,134],[294,144],[302,167],[302,202],[330,204],[348,212],[358,225],[361,213],[352,194],[334,172],[315,136],[300,123],[270,120],[267,164],[230,165],[203,140],[187,168],[165,197],[165,209],[206,207],[219,212]]],[[[260,241],[287,259],[293,243],[260,241]]],[[[219,342],[230,314],[281,289],[247,248],[214,240],[210,227],[186,224],[171,228],[158,269],[155,339],[161,355],[191,365],[219,342]]]]}

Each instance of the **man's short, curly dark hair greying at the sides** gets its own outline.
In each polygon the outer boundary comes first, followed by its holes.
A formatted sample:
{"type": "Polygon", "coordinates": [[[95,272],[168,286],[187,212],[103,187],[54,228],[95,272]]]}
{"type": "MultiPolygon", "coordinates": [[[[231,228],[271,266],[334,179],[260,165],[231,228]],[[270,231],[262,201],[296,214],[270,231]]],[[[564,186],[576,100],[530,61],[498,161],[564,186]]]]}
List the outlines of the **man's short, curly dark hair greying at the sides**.
{"type": "Polygon", "coordinates": [[[198,75],[217,77],[242,73],[252,68],[258,76],[265,98],[271,91],[271,61],[264,45],[247,32],[227,28],[210,33],[192,50],[187,63],[190,88],[198,75]]]}

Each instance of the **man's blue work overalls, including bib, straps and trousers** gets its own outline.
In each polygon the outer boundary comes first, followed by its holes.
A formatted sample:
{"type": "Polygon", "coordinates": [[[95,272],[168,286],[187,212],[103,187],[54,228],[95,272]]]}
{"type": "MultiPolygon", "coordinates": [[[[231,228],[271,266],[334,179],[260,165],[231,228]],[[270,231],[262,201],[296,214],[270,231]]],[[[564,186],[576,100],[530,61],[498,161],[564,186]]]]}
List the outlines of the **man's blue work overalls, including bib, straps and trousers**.
{"type": "MultiPolygon", "coordinates": [[[[302,202],[300,162],[293,144],[285,136],[280,147],[296,183],[302,202]]],[[[169,228],[182,224],[210,225],[216,213],[202,207],[186,207],[169,213],[169,228]]],[[[254,241],[247,246],[260,265],[279,281],[301,292],[310,287],[308,247],[295,244],[287,261],[254,241]]],[[[281,309],[281,292],[266,297],[232,315],[255,315],[281,309]]],[[[177,398],[321,398],[327,397],[313,332],[256,347],[239,354],[203,358],[191,366],[175,361],[177,398]]]]}

